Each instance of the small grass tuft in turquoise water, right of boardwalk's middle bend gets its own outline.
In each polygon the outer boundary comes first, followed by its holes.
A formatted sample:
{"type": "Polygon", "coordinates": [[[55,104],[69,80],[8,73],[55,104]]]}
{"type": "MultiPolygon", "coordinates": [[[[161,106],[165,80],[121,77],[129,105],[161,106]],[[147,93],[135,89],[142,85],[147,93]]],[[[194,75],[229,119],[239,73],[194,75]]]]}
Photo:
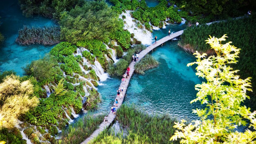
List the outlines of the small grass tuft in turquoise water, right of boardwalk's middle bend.
{"type": "Polygon", "coordinates": [[[153,69],[159,65],[159,62],[150,54],[145,55],[138,63],[135,64],[135,73],[145,74],[144,71],[153,69]]]}

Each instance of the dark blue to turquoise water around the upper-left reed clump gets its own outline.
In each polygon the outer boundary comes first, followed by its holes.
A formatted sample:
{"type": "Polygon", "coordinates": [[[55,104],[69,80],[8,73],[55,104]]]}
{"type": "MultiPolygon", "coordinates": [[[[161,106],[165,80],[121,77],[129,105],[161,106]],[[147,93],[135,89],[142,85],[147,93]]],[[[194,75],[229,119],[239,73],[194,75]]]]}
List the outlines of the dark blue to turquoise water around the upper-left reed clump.
{"type": "Polygon", "coordinates": [[[14,70],[18,75],[23,75],[24,71],[21,67],[26,66],[32,60],[39,59],[48,53],[53,46],[20,46],[15,43],[18,30],[23,25],[53,25],[53,21],[39,16],[26,18],[22,15],[17,0],[1,1],[0,17],[0,32],[5,36],[4,45],[0,48],[0,70],[14,70]]]}

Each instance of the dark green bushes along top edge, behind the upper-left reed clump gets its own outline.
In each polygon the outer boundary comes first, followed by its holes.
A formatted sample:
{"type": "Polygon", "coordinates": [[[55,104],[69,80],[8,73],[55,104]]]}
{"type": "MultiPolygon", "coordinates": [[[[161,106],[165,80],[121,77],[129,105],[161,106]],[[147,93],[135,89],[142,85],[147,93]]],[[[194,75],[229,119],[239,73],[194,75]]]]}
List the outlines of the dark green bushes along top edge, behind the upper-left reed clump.
{"type": "Polygon", "coordinates": [[[71,10],[76,5],[82,5],[83,0],[19,0],[23,15],[32,17],[33,14],[40,14],[45,17],[58,19],[64,10],[71,10]]]}

